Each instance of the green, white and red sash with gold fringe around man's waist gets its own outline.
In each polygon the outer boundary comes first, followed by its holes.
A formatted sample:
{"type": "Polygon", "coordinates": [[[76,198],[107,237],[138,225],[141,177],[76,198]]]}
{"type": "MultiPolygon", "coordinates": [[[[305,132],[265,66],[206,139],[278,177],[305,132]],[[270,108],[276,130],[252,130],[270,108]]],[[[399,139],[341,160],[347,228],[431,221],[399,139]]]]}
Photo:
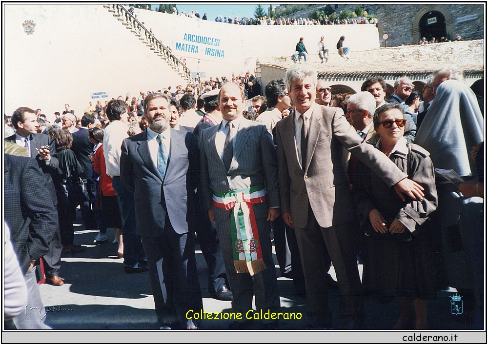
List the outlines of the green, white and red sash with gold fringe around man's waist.
{"type": "Polygon", "coordinates": [[[253,204],[267,200],[264,185],[230,192],[213,192],[214,206],[232,210],[230,231],[234,244],[234,267],[237,273],[248,272],[251,276],[266,269],[259,242],[258,226],[253,204]]]}

